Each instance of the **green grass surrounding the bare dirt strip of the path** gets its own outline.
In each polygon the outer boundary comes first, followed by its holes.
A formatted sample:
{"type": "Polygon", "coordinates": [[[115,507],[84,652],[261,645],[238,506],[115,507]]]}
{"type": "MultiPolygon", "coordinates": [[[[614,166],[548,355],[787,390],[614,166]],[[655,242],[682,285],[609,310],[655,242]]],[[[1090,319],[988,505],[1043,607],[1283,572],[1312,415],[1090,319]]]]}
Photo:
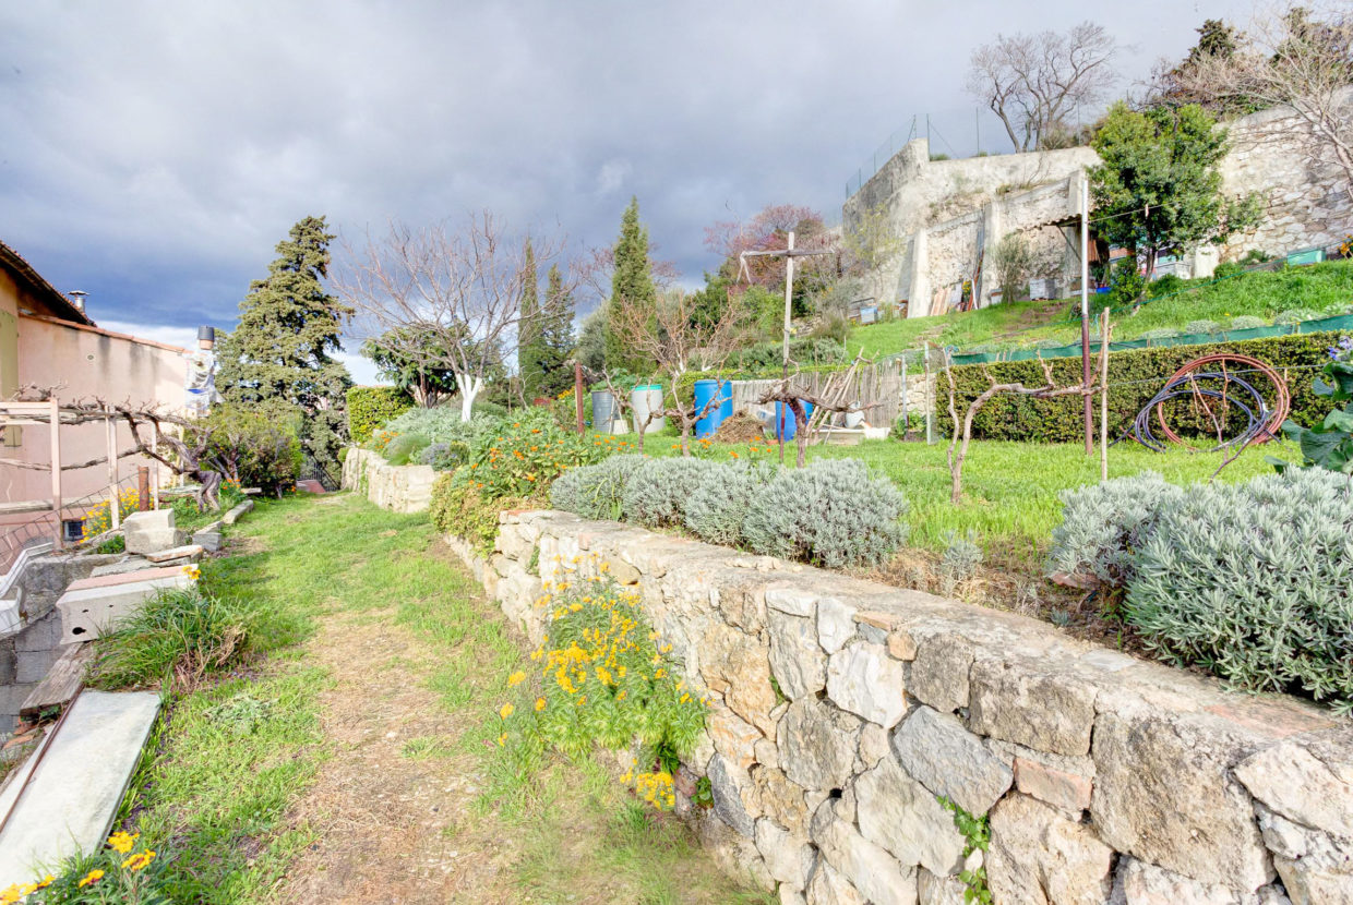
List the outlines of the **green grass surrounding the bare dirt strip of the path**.
{"type": "MultiPolygon", "coordinates": [[[[482,717],[482,729],[456,744],[490,771],[484,743],[498,733],[506,675],[530,663],[464,570],[428,555],[438,541],[425,515],[386,513],[353,496],[299,498],[260,506],[237,532],[248,547],[206,564],[203,583],[261,614],[272,656],[258,674],[177,701],[129,795],[134,829],[177,852],[169,871],[180,901],[268,901],[311,841],[313,831],[292,827],[287,814],[334,756],[318,712],[331,679],[298,647],[314,620],[394,609],[395,621],[437,652],[425,682],[441,705],[482,717]],[[207,714],[242,691],[267,705],[246,736],[207,714]]],[[[541,890],[586,898],[605,879],[635,891],[633,901],[760,901],[728,885],[683,827],[636,814],[632,797],[598,764],[551,759],[520,791],[514,814],[486,810],[480,818],[529,839],[529,858],[514,866],[524,898],[541,890]],[[580,825],[594,835],[578,839],[580,825]]]]}

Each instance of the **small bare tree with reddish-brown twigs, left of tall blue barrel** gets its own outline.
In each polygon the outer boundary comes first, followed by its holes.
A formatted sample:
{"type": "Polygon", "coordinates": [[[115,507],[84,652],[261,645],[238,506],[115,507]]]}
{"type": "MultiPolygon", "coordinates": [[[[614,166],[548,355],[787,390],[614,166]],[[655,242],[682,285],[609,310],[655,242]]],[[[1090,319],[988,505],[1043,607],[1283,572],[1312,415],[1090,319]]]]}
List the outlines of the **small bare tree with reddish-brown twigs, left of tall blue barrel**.
{"type": "Polygon", "coordinates": [[[612,310],[610,327],[616,335],[644,357],[656,361],[659,373],[667,381],[662,414],[681,423],[683,456],[690,455],[691,427],[717,407],[721,394],[714,394],[714,399],[697,407],[694,399],[682,398],[682,377],[691,371],[721,368],[739,348],[743,325],[735,307],[728,306],[717,321],[706,321],[695,317],[693,296],[670,291],[658,296],[653,308],[617,299],[612,310]]]}

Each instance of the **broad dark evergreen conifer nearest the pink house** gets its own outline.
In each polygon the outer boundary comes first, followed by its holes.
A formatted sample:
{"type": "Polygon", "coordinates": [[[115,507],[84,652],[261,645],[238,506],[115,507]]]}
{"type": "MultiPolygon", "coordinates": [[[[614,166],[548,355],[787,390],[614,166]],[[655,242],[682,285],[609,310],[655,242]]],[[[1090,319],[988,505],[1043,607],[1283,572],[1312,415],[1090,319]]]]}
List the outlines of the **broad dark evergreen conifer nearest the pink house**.
{"type": "Polygon", "coordinates": [[[239,325],[221,344],[216,386],[227,402],[276,418],[298,417],[302,448],[330,479],[346,442],[352,376],[333,358],[352,308],[323,291],[329,242],[322,216],[307,216],[277,243],[268,276],[239,303],[239,325]]]}

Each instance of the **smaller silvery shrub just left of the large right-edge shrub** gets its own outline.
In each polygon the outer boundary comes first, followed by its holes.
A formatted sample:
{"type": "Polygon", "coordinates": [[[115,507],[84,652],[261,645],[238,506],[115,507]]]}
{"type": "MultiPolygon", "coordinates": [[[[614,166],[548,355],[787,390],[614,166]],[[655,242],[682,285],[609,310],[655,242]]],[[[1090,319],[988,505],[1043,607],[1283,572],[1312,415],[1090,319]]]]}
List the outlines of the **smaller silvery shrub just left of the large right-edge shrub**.
{"type": "Polygon", "coordinates": [[[1135,551],[1161,513],[1183,496],[1183,487],[1154,471],[1063,490],[1049,574],[1092,575],[1103,584],[1122,587],[1135,571],[1135,551]]]}

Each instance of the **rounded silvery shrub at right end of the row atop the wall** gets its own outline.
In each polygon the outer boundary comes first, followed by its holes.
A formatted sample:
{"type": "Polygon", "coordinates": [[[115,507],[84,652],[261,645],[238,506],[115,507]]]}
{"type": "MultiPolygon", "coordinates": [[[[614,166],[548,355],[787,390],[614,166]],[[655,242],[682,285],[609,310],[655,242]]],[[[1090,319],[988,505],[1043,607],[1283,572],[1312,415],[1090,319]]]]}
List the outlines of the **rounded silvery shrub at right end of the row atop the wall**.
{"type": "Polygon", "coordinates": [[[752,498],[747,545],[828,568],[877,565],[907,540],[907,499],[858,459],[820,459],[786,469],[752,498]]]}

